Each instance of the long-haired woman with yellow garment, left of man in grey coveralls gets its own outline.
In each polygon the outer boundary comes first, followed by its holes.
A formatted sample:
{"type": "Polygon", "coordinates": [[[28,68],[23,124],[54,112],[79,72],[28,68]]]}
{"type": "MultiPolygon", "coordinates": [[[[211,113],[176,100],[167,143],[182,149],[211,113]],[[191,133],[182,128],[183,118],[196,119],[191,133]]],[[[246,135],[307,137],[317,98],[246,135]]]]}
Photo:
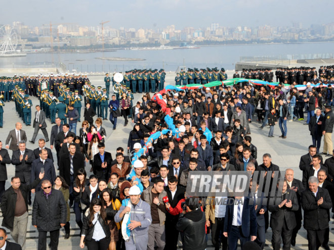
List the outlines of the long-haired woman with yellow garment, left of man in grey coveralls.
{"type": "MultiPolygon", "coordinates": [[[[101,192],[101,196],[102,196],[102,204],[104,206],[104,208],[106,209],[111,209],[111,210],[115,210],[116,213],[119,210],[121,204],[118,201],[118,199],[116,199],[113,195],[112,195],[112,191],[109,188],[105,188],[102,192],[101,192]]],[[[115,223],[114,220],[108,220],[108,225],[110,228],[110,243],[109,243],[109,250],[116,250],[116,242],[118,241],[118,232],[120,229],[120,224],[119,223],[115,223]]]]}

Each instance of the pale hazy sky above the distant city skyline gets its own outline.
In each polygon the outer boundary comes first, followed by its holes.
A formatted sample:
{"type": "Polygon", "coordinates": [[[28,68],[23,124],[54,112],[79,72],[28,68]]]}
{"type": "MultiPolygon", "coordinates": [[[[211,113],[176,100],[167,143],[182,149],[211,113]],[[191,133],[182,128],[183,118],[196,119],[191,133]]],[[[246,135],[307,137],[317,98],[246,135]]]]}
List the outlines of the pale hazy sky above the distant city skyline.
{"type": "Polygon", "coordinates": [[[3,0],[0,23],[13,21],[40,26],[52,23],[77,23],[97,26],[110,21],[112,28],[176,29],[219,26],[290,26],[333,22],[333,0],[3,0]]]}

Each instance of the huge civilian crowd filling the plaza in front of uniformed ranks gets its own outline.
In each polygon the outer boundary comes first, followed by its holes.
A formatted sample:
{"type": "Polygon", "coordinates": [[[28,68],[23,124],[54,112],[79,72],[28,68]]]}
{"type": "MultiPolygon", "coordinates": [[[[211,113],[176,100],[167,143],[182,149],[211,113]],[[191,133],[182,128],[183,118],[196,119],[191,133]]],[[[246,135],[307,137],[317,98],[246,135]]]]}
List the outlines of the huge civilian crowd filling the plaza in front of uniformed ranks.
{"type": "MultiPolygon", "coordinates": [[[[255,241],[256,246],[263,249],[270,226],[272,247],[277,250],[281,241],[284,249],[295,246],[304,218],[309,249],[316,250],[320,245],[329,249],[328,223],[334,201],[333,90],[330,85],[312,88],[309,83],[304,84],[306,90],[303,91],[298,91],[294,83],[288,89],[282,84],[272,89],[248,82],[166,91],[161,97],[170,109],[168,115],[151,100],[148,92],[133,106],[133,95],[129,95],[126,86],[121,86],[124,91],[118,92],[120,96],[112,94],[107,105],[109,120],[116,129],[117,117],[124,117],[124,125],[130,118],[133,129],[128,144],[120,145],[115,155],[108,152],[105,144],[107,131],[102,124],[106,116],[98,114],[90,93],[84,103],[82,122],[81,106],[74,107],[70,103],[72,94],[65,94],[69,96],[69,103],[63,103],[64,116],[58,112],[58,117],[54,118],[50,139],[46,126],[47,108],[36,105],[30,145],[27,145],[26,133],[19,122],[9,132],[4,146],[12,151],[11,157],[0,142],[2,225],[24,249],[28,206],[32,204],[32,225],[38,230],[38,249],[46,249],[47,232],[50,232],[52,249],[58,247],[61,227],[65,230],[65,239],[70,237],[70,209],[73,209],[75,222],[81,230],[81,248],[87,245],[88,249],[102,250],[176,249],[180,234],[184,249],[205,249],[206,236],[211,233],[215,249],[235,250],[238,240],[241,247],[247,241],[255,241]],[[296,109],[294,99],[303,106],[296,109]],[[277,184],[276,187],[277,192],[282,191],[279,203],[262,203],[259,180],[254,180],[251,183],[257,186],[256,193],[231,197],[235,201],[232,204],[193,204],[194,197],[186,193],[190,171],[251,171],[252,174],[273,171],[272,179],[275,173],[279,174],[280,168],[272,163],[269,153],[262,156],[262,163],[258,162],[249,124],[259,122],[260,128],[270,126],[268,136],[273,137],[274,126],[279,121],[280,137],[284,139],[286,121],[288,118],[295,120],[296,110],[299,117],[307,112],[306,124],[313,143],[309,152],[301,157],[302,180],[294,178],[295,171],[299,171],[297,168],[281,174],[283,186],[277,184]],[[172,118],[177,133],[161,134],[149,141],[152,134],[172,129],[165,122],[167,116],[172,118]],[[81,127],[77,133],[78,122],[81,127]],[[39,129],[44,138],[38,139],[38,147],[29,149],[39,129]],[[322,155],[321,137],[324,137],[322,155]],[[49,141],[50,148],[47,147],[49,141]],[[144,153],[134,160],[134,153],[142,148],[144,153]],[[54,150],[57,161],[53,158],[54,150]],[[323,157],[328,158],[324,161],[323,157]],[[15,166],[15,175],[11,177],[11,186],[5,190],[6,165],[9,164],[15,166]],[[89,171],[85,170],[86,166],[89,171]],[[31,193],[35,193],[33,201],[31,193]],[[256,204],[252,205],[251,199],[257,201],[256,204]]],[[[93,87],[85,82],[82,89],[93,91],[93,87]]],[[[18,95],[24,92],[18,86],[14,91],[18,106],[21,102],[18,95]]],[[[107,88],[103,89],[105,96],[108,92],[107,88]]],[[[52,94],[44,90],[39,99],[47,100],[52,94]]],[[[61,101],[62,93],[58,94],[61,101]]],[[[74,96],[81,104],[75,89],[74,96]]],[[[27,102],[24,105],[30,104],[31,112],[31,100],[27,102]]],[[[17,111],[20,114],[19,109],[17,111]]],[[[50,119],[52,121],[51,115],[50,119]]],[[[30,125],[26,121],[25,124],[30,125]]],[[[4,239],[6,230],[0,229],[0,234],[4,239]]],[[[0,239],[0,248],[2,242],[9,241],[0,239]]]]}

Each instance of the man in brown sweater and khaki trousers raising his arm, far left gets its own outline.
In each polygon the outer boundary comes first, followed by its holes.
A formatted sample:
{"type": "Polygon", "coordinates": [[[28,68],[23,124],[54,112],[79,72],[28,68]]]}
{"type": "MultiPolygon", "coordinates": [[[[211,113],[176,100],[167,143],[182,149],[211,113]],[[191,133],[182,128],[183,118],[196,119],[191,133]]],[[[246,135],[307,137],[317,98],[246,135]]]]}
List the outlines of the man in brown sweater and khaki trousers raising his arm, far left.
{"type": "MultiPolygon", "coordinates": [[[[12,177],[11,187],[9,187],[2,197],[1,211],[3,212],[3,227],[11,230],[11,235],[16,243],[25,249],[25,238],[28,224],[28,195],[31,189],[35,188],[44,173],[29,185],[23,184],[17,176],[12,177]]],[[[10,248],[12,249],[12,248],[10,248]]]]}

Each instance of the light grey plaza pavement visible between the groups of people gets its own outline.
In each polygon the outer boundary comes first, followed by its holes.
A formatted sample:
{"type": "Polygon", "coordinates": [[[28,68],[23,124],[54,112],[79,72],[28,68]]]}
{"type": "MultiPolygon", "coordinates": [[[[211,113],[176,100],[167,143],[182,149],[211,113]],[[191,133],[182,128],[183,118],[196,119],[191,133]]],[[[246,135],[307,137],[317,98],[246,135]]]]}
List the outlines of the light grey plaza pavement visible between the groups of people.
{"type": "MultiPolygon", "coordinates": [[[[169,84],[175,84],[174,82],[175,74],[168,74],[166,77],[166,82],[169,84]]],[[[229,76],[229,78],[231,78],[229,76]]],[[[94,76],[90,77],[90,80],[93,85],[95,86],[104,86],[103,82],[103,76],[94,76]]],[[[39,105],[39,101],[36,97],[31,97],[33,105],[39,105]]],[[[135,94],[135,100],[134,104],[141,99],[141,94],[135,94]]],[[[15,128],[16,122],[22,122],[20,118],[18,117],[18,114],[15,111],[15,105],[13,102],[11,103],[5,103],[4,107],[4,127],[0,129],[0,140],[3,142],[5,147],[5,141],[8,135],[8,132],[15,128]]],[[[84,112],[81,112],[81,121],[84,119],[83,117],[84,112]]],[[[32,119],[34,118],[34,109],[32,109],[32,119]]],[[[95,117],[96,119],[96,117],[95,117]]],[[[256,120],[256,117],[255,119],[256,120]]],[[[48,133],[50,136],[51,131],[51,123],[49,120],[47,120],[48,125],[48,133]]],[[[107,138],[105,140],[106,144],[106,151],[110,152],[112,156],[115,156],[116,148],[119,146],[122,146],[124,149],[127,147],[128,142],[128,136],[129,132],[133,128],[133,123],[129,121],[129,124],[124,127],[124,120],[123,118],[118,118],[117,121],[117,127],[116,130],[112,130],[112,124],[110,121],[103,121],[102,126],[106,129],[107,138]]],[[[287,168],[292,168],[295,170],[295,178],[302,179],[302,171],[299,170],[299,161],[300,157],[308,152],[308,146],[312,144],[312,139],[310,136],[310,132],[308,130],[308,126],[304,126],[303,122],[287,122],[287,138],[282,139],[278,136],[281,135],[280,129],[278,127],[278,124],[275,126],[274,131],[274,138],[268,137],[269,127],[265,127],[264,129],[260,129],[260,125],[257,122],[252,122],[250,124],[251,127],[251,136],[252,136],[252,143],[255,144],[258,147],[258,162],[259,164],[262,164],[262,155],[265,153],[271,154],[272,162],[279,166],[281,171],[284,171],[287,168]]],[[[79,131],[80,124],[77,126],[77,133],[79,131]]],[[[22,127],[23,130],[25,130],[27,139],[30,140],[33,134],[33,128],[32,126],[26,127],[23,124],[22,127]]],[[[42,138],[43,134],[41,131],[39,132],[36,142],[34,145],[27,142],[27,148],[34,149],[38,147],[38,139],[42,138]]],[[[50,144],[47,143],[47,147],[50,147],[50,144]]],[[[322,146],[320,151],[322,150],[322,146]]],[[[10,156],[12,156],[12,152],[9,151],[10,156]]],[[[57,159],[56,157],[56,151],[53,150],[54,159],[57,159]]],[[[324,158],[325,160],[326,158],[324,158]]],[[[57,164],[55,163],[55,166],[57,164]]],[[[90,174],[90,166],[86,166],[86,171],[88,172],[88,175],[90,174]]],[[[14,166],[13,165],[7,165],[7,172],[9,180],[6,183],[6,188],[10,186],[10,178],[14,175],[14,166]]],[[[58,174],[58,171],[56,171],[58,174]]],[[[32,198],[33,200],[33,198],[32,198]]],[[[37,245],[37,238],[38,238],[38,232],[37,230],[31,225],[31,209],[32,206],[29,206],[29,221],[28,221],[28,232],[27,232],[27,242],[26,242],[26,249],[36,249],[37,245]]],[[[332,216],[332,213],[331,213],[332,216]]],[[[1,216],[2,217],[2,216],[1,216]]],[[[0,219],[2,220],[2,218],[0,219]]],[[[330,228],[330,235],[329,235],[329,246],[334,246],[334,239],[332,230],[333,230],[333,220],[329,222],[329,228],[330,228]]],[[[79,247],[79,228],[75,223],[75,216],[73,213],[73,210],[71,209],[71,221],[70,221],[71,231],[70,231],[70,238],[64,239],[65,232],[63,229],[60,231],[60,241],[59,241],[59,249],[67,250],[67,249],[80,249],[79,247]]],[[[266,246],[265,249],[272,249],[271,247],[271,229],[268,229],[268,233],[266,234],[267,240],[266,240],[266,246]]],[[[208,235],[208,248],[207,249],[214,249],[213,245],[211,243],[211,236],[208,235]]],[[[11,237],[9,236],[9,239],[11,237]]],[[[307,249],[307,239],[306,239],[306,230],[302,229],[299,231],[299,235],[297,236],[297,243],[295,247],[292,247],[293,249],[307,249]]],[[[179,245],[181,245],[181,242],[179,242],[179,245]]]]}

